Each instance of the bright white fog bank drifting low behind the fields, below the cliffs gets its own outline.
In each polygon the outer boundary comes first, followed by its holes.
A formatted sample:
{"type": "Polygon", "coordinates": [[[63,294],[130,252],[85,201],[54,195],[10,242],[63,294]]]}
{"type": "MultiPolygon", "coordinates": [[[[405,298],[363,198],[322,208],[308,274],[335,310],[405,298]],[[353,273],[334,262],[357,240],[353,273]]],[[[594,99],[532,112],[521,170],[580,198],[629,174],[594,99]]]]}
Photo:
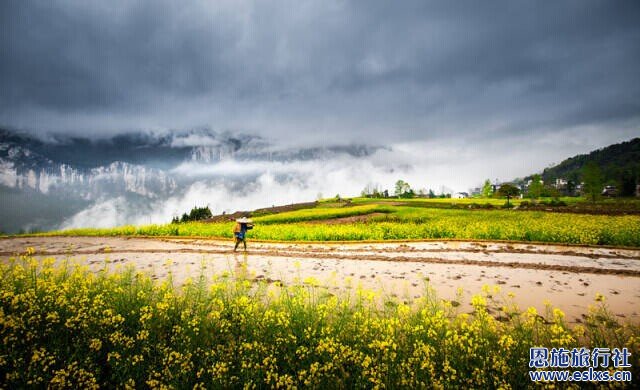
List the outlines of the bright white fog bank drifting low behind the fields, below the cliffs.
{"type": "Polygon", "coordinates": [[[605,146],[606,137],[601,134],[600,128],[581,127],[566,134],[574,139],[570,143],[560,143],[560,135],[547,133],[494,138],[482,144],[451,137],[447,141],[394,144],[367,157],[186,162],[170,171],[189,183],[179,194],[144,207],[128,204],[121,197],[101,200],[66,220],[62,227],[166,223],[194,206],[209,206],[214,214],[254,210],[313,201],[318,193],[324,197],[358,196],[369,184],[392,193],[398,179],[415,190],[467,191],[487,178],[505,181],[541,172],[549,159],[559,162],[570,155],[605,146]]]}

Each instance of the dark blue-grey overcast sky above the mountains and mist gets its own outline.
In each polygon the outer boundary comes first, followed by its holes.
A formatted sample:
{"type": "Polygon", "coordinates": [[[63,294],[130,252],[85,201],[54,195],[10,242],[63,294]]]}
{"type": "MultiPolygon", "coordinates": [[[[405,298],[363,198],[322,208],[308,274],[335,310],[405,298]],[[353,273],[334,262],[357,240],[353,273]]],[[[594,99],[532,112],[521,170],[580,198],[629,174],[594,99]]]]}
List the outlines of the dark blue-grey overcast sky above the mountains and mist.
{"type": "Polygon", "coordinates": [[[7,0],[0,50],[0,126],[33,133],[207,126],[526,169],[640,134],[638,1],[7,0]]]}

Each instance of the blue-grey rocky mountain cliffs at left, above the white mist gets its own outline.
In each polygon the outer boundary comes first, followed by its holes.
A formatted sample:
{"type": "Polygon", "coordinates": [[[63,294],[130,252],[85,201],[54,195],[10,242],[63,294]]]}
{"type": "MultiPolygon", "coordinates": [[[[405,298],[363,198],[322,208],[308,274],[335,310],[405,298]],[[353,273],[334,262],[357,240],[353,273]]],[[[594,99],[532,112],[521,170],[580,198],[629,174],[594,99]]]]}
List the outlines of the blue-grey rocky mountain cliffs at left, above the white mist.
{"type": "MultiPolygon", "coordinates": [[[[196,202],[203,198],[194,194],[200,188],[232,194],[255,186],[256,167],[361,158],[377,149],[362,145],[284,148],[257,136],[206,129],[96,140],[43,139],[0,129],[0,231],[57,228],[82,211],[116,204],[137,216],[125,215],[114,223],[148,223],[141,210],[155,211],[163,202],[180,207],[181,200],[196,202]]],[[[295,175],[282,174],[284,180],[304,181],[295,175]]],[[[156,222],[169,221],[172,212],[166,212],[166,221],[156,222]]]]}

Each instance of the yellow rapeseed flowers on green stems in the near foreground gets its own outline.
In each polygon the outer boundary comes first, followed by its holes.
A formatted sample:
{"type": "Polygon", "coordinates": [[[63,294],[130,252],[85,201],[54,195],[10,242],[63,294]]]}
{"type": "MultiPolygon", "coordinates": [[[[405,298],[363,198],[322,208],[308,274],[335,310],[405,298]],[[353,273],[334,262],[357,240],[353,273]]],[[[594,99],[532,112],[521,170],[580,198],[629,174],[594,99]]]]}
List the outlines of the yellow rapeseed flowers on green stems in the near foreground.
{"type": "MultiPolygon", "coordinates": [[[[25,255],[0,264],[0,374],[9,388],[526,387],[529,348],[629,348],[640,330],[594,297],[583,324],[517,308],[486,286],[472,311],[425,285],[408,306],[234,275],[173,286],[25,255]],[[489,303],[500,302],[499,312],[489,303]]],[[[466,305],[464,305],[466,306],[466,305]]]]}

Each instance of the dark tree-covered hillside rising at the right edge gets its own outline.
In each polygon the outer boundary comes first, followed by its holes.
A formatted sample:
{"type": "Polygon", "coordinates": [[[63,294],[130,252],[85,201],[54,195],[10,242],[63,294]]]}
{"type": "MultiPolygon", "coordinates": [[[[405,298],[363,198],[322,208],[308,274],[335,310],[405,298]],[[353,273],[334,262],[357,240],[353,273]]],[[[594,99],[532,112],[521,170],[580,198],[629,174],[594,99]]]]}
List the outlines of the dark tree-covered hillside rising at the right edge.
{"type": "MultiPolygon", "coordinates": [[[[590,161],[600,167],[606,184],[617,185],[620,189],[635,189],[635,184],[640,182],[640,138],[568,158],[556,166],[546,168],[542,172],[542,179],[545,183],[552,183],[558,178],[579,183],[582,180],[582,168],[590,161]],[[631,182],[633,186],[630,185],[631,182]]],[[[531,177],[525,180],[529,178],[531,177]]]]}

